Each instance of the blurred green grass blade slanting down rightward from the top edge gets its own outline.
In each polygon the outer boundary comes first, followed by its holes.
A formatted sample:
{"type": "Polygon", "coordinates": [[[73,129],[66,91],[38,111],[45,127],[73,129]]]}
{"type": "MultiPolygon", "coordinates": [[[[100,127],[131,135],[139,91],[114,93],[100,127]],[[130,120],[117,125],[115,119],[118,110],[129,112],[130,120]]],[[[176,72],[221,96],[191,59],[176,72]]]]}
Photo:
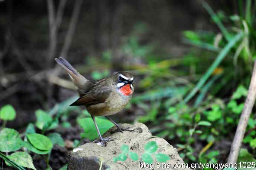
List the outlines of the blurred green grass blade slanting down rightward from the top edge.
{"type": "Polygon", "coordinates": [[[220,30],[223,33],[225,39],[227,41],[229,41],[231,36],[230,36],[229,32],[227,31],[227,29],[224,27],[224,25],[221,23],[219,17],[214,13],[214,11],[211,9],[211,7],[206,2],[203,2],[203,6],[208,11],[208,13],[210,14],[210,16],[213,19],[213,21],[220,28],[220,30]]]}

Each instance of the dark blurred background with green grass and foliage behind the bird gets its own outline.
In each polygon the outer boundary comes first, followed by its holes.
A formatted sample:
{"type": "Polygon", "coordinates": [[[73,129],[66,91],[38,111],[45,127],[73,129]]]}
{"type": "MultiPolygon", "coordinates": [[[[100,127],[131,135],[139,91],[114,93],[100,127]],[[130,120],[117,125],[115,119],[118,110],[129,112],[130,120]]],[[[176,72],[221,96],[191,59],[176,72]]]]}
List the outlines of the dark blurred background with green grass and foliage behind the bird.
{"type": "MultiPolygon", "coordinates": [[[[58,119],[50,132],[65,147],[53,147],[52,169],[75,141],[89,142],[79,126],[88,113],[68,107],[77,94],[54,60],[62,56],[88,79],[134,74],[118,123],[145,123],[185,163],[226,162],[256,57],[255,10],[251,0],[1,0],[0,107],[12,105],[16,118],[0,124],[23,133],[29,123],[40,131],[40,111],[58,119]]],[[[252,114],[242,146],[252,161],[255,125],[252,114]]]]}

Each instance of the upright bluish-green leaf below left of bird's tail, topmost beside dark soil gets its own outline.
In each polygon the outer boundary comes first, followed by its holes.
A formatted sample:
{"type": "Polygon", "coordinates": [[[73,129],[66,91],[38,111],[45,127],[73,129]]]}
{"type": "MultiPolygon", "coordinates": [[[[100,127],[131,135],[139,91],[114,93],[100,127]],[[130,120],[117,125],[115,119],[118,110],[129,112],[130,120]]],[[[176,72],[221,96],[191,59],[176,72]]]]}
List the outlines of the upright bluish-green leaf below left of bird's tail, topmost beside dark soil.
{"type": "MultiPolygon", "coordinates": [[[[36,127],[38,129],[43,130],[44,126],[47,126],[47,124],[51,123],[53,121],[52,117],[50,117],[49,114],[47,114],[45,111],[38,109],[36,110],[36,127]]],[[[55,129],[58,126],[56,123],[52,123],[47,130],[55,129]]]]}

